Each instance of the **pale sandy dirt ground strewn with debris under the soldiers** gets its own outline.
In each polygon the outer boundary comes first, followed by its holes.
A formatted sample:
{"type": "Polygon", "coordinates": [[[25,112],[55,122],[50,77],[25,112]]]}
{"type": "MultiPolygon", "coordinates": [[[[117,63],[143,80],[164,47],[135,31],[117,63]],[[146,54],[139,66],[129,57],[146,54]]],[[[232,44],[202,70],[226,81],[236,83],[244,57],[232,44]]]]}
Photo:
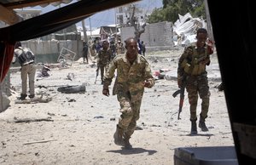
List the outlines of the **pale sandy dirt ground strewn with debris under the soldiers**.
{"type": "MultiPolygon", "coordinates": [[[[207,68],[213,75],[209,78],[211,99],[206,122],[209,131],[199,129],[198,135],[189,134],[187,94],[181,120],[177,120],[179,98],[173,98],[172,94],[177,90],[175,73],[181,52],[178,48],[146,54],[153,72],[166,69],[172,76],[145,89],[141,117],[131,136],[132,150],[113,144],[119,103],[116,96],[102,95],[100,77],[96,81],[96,66],[91,61],[83,64],[80,59],[67,69],[52,67],[49,77],[36,77],[37,97],[52,98],[48,103],[15,104],[21,90],[20,72],[12,72],[11,84],[15,90],[9,97],[10,107],[0,113],[0,164],[172,165],[178,147],[234,145],[224,92],[216,88],[221,83],[216,54],[207,68]],[[73,73],[73,79],[67,78],[68,73],[73,73]],[[82,83],[86,84],[84,94],[57,91],[82,83]]],[[[200,109],[201,100],[198,114],[200,109]]]]}

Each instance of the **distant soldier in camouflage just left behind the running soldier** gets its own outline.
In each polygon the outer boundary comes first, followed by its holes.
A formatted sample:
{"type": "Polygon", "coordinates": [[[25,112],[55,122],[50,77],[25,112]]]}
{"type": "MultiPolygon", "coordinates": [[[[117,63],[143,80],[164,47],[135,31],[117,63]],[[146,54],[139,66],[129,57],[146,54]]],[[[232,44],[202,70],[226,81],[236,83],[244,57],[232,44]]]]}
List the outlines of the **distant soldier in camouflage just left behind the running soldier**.
{"type": "Polygon", "coordinates": [[[97,67],[101,71],[101,78],[103,84],[104,71],[108,71],[108,65],[112,57],[112,50],[109,48],[108,41],[103,41],[102,48],[97,55],[97,67]]]}

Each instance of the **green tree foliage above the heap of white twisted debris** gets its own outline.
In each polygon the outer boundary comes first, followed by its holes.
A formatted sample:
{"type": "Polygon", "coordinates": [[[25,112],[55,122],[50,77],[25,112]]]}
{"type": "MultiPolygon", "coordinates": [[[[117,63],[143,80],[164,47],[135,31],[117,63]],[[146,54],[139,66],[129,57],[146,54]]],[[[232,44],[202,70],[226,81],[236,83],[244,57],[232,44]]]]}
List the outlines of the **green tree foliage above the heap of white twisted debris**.
{"type": "Polygon", "coordinates": [[[206,18],[204,0],[163,0],[163,8],[154,9],[148,16],[148,23],[160,21],[175,22],[178,14],[190,13],[193,17],[206,18]]]}

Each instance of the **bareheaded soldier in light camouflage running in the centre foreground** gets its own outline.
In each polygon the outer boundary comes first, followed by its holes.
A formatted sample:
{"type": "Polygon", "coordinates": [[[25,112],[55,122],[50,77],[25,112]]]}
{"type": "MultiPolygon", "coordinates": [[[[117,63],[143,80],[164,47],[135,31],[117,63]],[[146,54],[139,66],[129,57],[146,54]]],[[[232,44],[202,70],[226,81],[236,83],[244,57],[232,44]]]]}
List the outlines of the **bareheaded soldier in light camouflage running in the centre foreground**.
{"type": "Polygon", "coordinates": [[[154,86],[154,77],[152,77],[148,61],[138,54],[137,40],[133,37],[128,38],[125,48],[127,49],[126,53],[116,56],[110,63],[104,76],[102,94],[109,95],[108,86],[117,70],[118,77],[115,79],[115,88],[120,104],[119,111],[122,114],[119,117],[113,138],[116,145],[123,145],[126,149],[131,149],[129,139],[139,119],[144,88],[154,86]]]}

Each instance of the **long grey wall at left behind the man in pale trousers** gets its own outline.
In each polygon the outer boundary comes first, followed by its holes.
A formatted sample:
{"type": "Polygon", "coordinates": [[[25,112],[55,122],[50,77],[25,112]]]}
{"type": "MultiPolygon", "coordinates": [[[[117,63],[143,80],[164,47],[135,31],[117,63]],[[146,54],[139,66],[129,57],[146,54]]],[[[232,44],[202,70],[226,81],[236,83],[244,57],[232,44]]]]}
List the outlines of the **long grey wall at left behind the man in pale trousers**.
{"type": "Polygon", "coordinates": [[[79,60],[82,56],[83,41],[82,40],[29,40],[21,42],[22,47],[27,47],[35,54],[36,63],[57,63],[57,59],[61,53],[61,48],[67,48],[76,53],[74,60],[79,60]]]}

